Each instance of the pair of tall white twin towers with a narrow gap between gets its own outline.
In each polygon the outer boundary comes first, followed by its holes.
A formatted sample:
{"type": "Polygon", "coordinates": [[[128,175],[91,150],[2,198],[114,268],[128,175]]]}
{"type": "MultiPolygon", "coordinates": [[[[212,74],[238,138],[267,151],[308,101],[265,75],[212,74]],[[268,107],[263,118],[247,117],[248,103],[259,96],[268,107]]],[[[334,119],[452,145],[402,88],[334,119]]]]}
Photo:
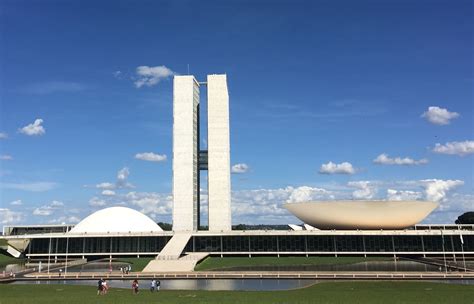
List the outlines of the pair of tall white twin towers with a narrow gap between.
{"type": "Polygon", "coordinates": [[[208,171],[209,230],[229,231],[229,93],[226,75],[173,80],[173,230],[196,231],[200,224],[200,170],[208,171]],[[199,148],[200,87],[207,85],[207,150],[199,148]]]}

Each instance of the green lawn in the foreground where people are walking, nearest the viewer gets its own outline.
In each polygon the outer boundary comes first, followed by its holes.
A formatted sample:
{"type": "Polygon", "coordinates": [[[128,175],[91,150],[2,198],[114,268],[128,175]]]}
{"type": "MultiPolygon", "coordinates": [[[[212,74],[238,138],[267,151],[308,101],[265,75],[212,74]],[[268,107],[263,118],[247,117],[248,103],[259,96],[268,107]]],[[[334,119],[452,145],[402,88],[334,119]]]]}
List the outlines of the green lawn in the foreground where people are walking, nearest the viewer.
{"type": "MultiPolygon", "coordinates": [[[[142,283],[142,286],[145,284],[142,283]]],[[[288,291],[203,291],[111,289],[97,296],[95,286],[0,285],[0,304],[12,303],[473,303],[473,285],[432,282],[323,282],[288,291]]]]}

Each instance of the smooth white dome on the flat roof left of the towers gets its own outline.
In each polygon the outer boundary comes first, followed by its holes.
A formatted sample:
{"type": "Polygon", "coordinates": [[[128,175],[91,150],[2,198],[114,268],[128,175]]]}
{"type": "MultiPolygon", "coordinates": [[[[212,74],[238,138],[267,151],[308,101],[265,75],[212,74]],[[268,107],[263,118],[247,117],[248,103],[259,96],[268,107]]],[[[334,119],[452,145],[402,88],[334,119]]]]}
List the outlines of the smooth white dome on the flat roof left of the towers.
{"type": "Polygon", "coordinates": [[[160,232],[151,218],[125,207],[110,207],[96,211],[79,222],[69,233],[129,233],[160,232]]]}

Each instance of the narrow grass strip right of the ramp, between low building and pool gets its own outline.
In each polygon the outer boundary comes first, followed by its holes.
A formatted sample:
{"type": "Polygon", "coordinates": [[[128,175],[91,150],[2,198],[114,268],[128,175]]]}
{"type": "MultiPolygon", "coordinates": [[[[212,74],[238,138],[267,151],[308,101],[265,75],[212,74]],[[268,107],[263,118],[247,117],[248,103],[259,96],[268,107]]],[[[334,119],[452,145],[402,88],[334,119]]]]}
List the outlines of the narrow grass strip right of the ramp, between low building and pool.
{"type": "Polygon", "coordinates": [[[216,270],[247,266],[338,265],[390,260],[387,257],[208,257],[195,270],[216,270]]]}

